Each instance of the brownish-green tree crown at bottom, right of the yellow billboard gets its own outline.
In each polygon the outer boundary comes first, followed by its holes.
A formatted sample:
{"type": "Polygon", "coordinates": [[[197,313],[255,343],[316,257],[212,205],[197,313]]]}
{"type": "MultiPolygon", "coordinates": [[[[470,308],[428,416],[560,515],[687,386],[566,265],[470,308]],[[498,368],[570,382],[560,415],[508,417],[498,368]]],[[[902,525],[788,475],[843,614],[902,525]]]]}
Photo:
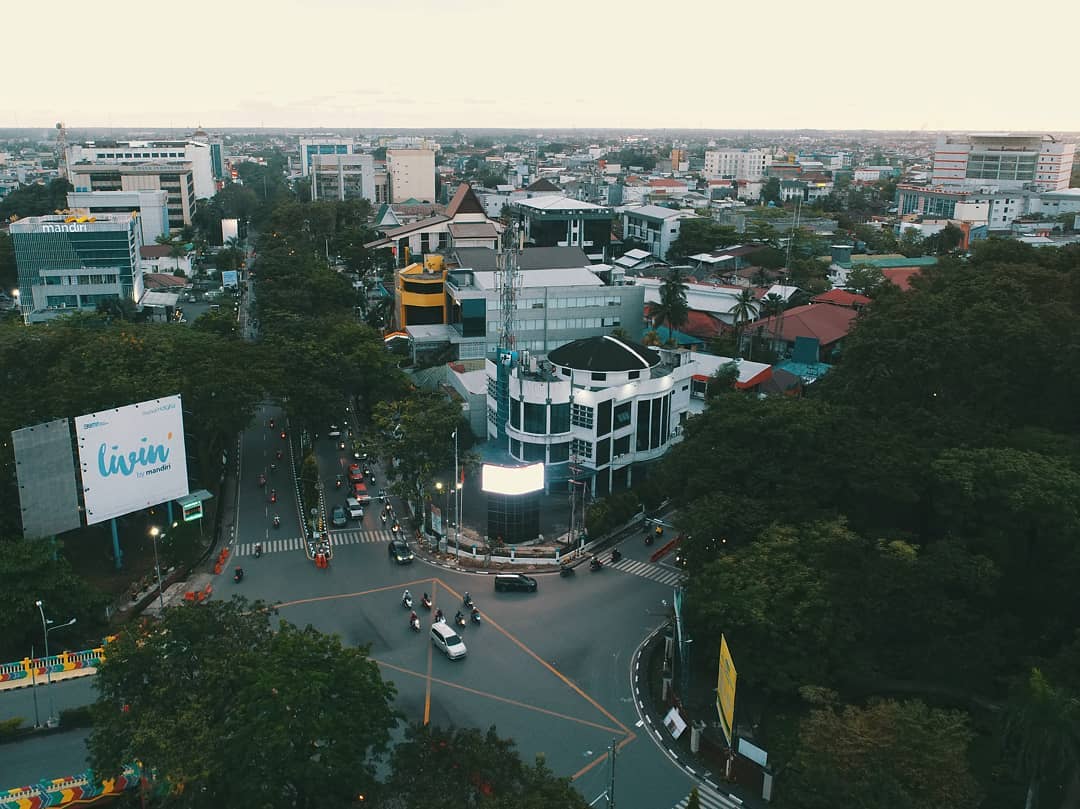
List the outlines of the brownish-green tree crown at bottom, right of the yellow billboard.
{"type": "Polygon", "coordinates": [[[918,700],[818,709],[799,726],[783,795],[793,809],[974,809],[966,714],[918,700]]]}

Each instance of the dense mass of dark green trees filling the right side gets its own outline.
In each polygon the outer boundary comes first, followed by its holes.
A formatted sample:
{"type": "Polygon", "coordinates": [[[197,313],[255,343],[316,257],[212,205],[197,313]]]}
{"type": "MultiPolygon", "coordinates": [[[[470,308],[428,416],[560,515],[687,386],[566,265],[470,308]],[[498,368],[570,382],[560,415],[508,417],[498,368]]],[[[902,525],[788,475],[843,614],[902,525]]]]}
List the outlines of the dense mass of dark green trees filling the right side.
{"type": "Polygon", "coordinates": [[[690,625],[727,635],[747,727],[801,718],[769,740],[785,806],[1080,794],[1078,364],[1080,247],[990,240],[879,296],[805,396],[687,424],[660,480],[690,625]],[[923,744],[959,769],[886,755],[923,744]]]}

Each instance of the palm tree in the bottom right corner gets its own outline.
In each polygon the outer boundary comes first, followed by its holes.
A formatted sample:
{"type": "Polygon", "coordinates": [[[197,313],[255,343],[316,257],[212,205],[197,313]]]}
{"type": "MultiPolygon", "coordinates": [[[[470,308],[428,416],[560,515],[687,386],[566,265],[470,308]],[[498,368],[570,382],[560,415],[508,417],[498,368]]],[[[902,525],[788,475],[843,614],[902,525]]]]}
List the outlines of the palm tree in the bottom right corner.
{"type": "Polygon", "coordinates": [[[1028,782],[1025,809],[1036,806],[1039,787],[1048,781],[1068,791],[1075,785],[1080,774],[1080,700],[1038,669],[1031,670],[1005,712],[1003,736],[1028,782]]]}

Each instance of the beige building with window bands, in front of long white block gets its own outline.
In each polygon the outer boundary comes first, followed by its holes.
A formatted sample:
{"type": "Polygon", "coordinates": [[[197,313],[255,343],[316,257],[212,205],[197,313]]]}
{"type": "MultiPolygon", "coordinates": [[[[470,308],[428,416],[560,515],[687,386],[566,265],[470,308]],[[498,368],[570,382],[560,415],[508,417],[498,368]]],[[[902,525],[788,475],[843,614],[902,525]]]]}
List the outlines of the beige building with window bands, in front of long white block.
{"type": "Polygon", "coordinates": [[[171,229],[190,225],[195,212],[194,174],[189,163],[72,163],[68,178],[79,193],[165,191],[171,229]]]}

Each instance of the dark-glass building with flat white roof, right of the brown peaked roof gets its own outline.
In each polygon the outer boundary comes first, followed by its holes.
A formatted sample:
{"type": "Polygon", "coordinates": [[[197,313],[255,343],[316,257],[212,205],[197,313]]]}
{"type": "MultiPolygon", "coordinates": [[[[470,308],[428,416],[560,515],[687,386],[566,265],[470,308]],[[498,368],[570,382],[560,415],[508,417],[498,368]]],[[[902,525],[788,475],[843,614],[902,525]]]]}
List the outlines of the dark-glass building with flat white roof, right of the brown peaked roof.
{"type": "Polygon", "coordinates": [[[569,197],[536,197],[512,205],[526,244],[581,247],[591,261],[607,261],[615,208],[569,197]]]}

